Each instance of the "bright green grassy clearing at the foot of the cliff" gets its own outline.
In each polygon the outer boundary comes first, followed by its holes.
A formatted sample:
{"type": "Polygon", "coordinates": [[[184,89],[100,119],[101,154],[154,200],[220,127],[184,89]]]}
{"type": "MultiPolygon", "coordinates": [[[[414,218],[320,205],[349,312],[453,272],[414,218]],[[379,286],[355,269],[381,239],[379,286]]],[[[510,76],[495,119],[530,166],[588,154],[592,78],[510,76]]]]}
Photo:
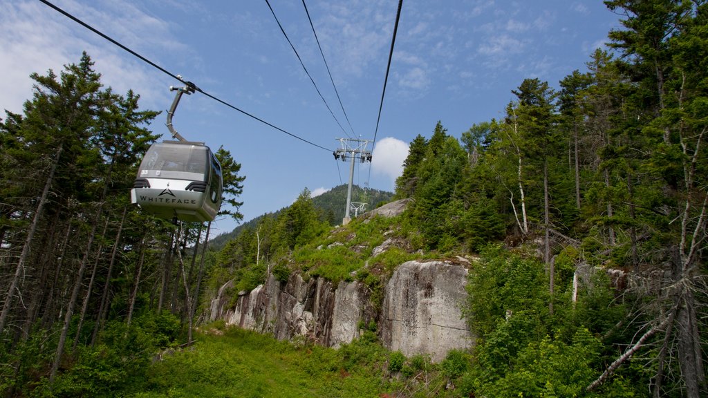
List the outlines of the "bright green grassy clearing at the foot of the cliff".
{"type": "Polygon", "coordinates": [[[372,342],[335,351],[228,328],[154,363],[132,397],[378,397],[397,390],[386,359],[372,342]]]}

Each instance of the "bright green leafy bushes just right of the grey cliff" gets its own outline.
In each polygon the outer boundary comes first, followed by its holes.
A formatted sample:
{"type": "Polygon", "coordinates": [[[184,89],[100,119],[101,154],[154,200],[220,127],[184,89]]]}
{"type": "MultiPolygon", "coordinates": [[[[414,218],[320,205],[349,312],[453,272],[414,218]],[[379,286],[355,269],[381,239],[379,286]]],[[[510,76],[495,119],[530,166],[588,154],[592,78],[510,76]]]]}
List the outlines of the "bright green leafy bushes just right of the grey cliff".
{"type": "MultiPolygon", "coordinates": [[[[559,285],[569,285],[564,271],[578,256],[566,249],[556,265],[559,285]]],[[[464,393],[489,397],[583,397],[600,373],[607,334],[626,314],[615,301],[607,276],[593,273],[581,281],[578,302],[569,297],[548,310],[547,279],[541,263],[488,246],[469,273],[468,307],[464,309],[477,334],[474,361],[464,368],[462,353],[450,353],[441,364],[464,393]],[[586,327],[587,326],[587,327],[586,327]],[[457,365],[453,365],[457,364],[457,365]],[[459,371],[455,371],[459,369],[459,371]]],[[[631,375],[631,373],[630,373],[631,375]]],[[[634,394],[631,377],[619,375],[603,387],[603,396],[634,394]]]]}

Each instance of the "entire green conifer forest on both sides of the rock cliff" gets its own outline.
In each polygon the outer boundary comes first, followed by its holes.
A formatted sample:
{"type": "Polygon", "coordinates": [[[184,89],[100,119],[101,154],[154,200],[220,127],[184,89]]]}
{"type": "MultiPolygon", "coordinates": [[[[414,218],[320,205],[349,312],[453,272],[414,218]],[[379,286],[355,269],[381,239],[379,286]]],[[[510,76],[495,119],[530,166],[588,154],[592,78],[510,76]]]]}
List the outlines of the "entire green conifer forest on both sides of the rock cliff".
{"type": "MultiPolygon", "coordinates": [[[[346,377],[371,388],[351,394],[381,397],[708,395],[708,3],[605,4],[622,28],[586,65],[559,82],[508,82],[498,120],[464,132],[431,120],[409,144],[393,200],[411,200],[390,221],[409,250],[387,261],[476,258],[469,350],[404,358],[377,346],[373,326],[336,353],[246,336],[244,347],[268,347],[263,358],[318,356],[295,365],[314,387],[218,396],[338,396],[313,389],[346,377]]],[[[215,292],[228,280],[251,290],[268,273],[326,276],[316,268],[329,260],[310,252],[339,220],[305,188],[210,246],[209,223],[130,203],[159,112],[103,86],[86,53],[31,79],[22,113],[0,121],[0,394],[200,396],[160,380],[226,360],[209,344],[242,332],[202,334],[215,292]],[[166,349],[195,357],[167,368],[155,359],[166,349]]],[[[241,220],[246,176],[227,149],[215,154],[225,216],[241,220]]],[[[390,277],[331,275],[372,290],[390,277]]]]}

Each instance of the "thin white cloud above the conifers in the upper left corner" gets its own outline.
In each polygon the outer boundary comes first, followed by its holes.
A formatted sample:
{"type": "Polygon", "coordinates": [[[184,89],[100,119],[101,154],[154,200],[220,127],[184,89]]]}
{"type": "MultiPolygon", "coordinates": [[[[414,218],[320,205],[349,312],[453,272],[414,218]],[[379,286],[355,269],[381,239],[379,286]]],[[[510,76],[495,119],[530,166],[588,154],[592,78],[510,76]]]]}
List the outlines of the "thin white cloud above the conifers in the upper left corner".
{"type": "MultiPolygon", "coordinates": [[[[185,47],[171,37],[167,23],[147,16],[130,4],[122,5],[122,14],[126,16],[118,19],[115,14],[75,1],[61,6],[124,45],[135,45],[132,49],[138,52],[185,51],[185,47]],[[151,34],[147,34],[148,31],[151,34]]],[[[49,69],[58,75],[65,64],[79,62],[84,50],[95,62],[94,69],[101,73],[104,86],[113,87],[116,93],[133,89],[141,94],[141,106],[146,108],[159,108],[168,103],[169,91],[155,84],[159,72],[137,58],[125,57],[124,50],[52,8],[35,1],[18,1],[0,2],[0,76],[3,76],[0,109],[21,113],[22,104],[32,96],[33,81],[29,75],[33,72],[45,75],[49,69]]],[[[169,78],[166,81],[170,81],[169,78]]]]}

